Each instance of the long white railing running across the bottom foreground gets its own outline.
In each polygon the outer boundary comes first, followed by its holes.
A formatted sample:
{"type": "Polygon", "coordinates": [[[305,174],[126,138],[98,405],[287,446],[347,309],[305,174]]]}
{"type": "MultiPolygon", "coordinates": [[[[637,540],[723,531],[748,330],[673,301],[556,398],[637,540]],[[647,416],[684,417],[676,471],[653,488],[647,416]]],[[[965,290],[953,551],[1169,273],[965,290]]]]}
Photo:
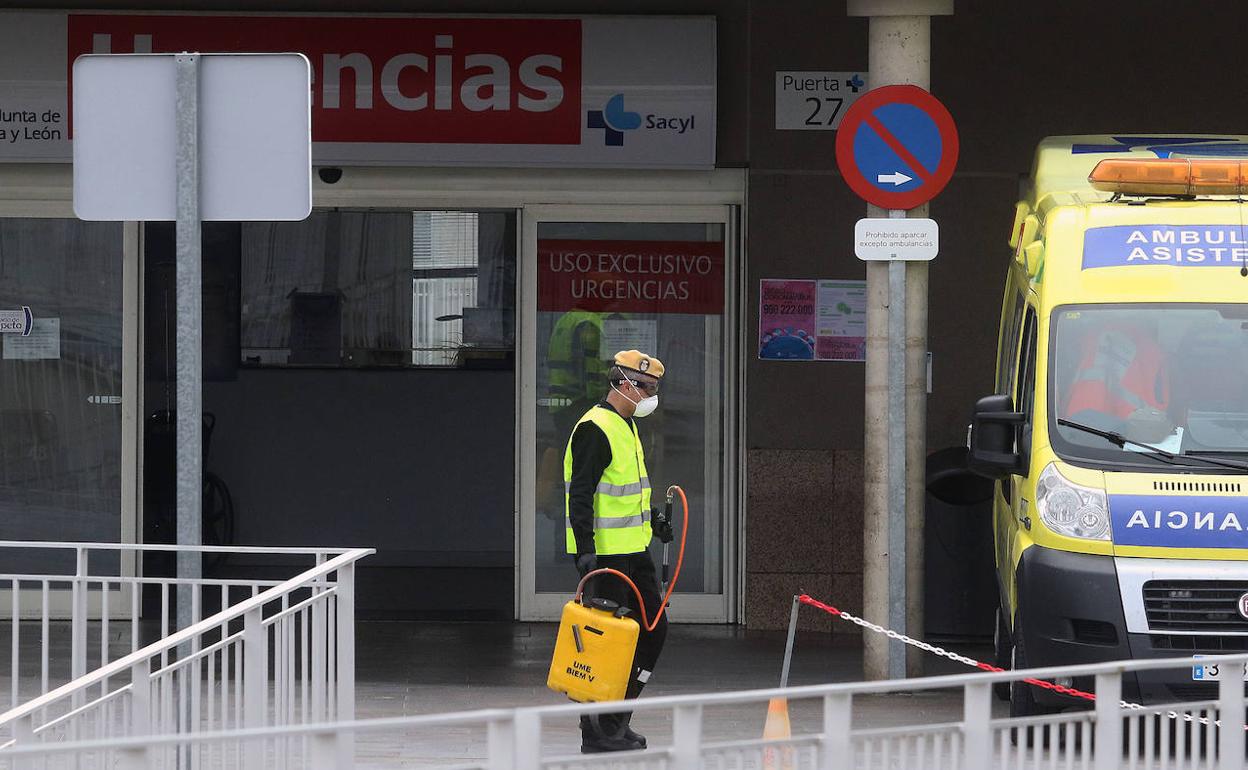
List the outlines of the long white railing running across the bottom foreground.
{"type": "MultiPolygon", "coordinates": [[[[1223,665],[1234,668],[1243,661],[1248,655],[1227,656],[1223,665]]],[[[578,736],[569,726],[579,714],[619,710],[618,703],[608,703],[19,744],[0,751],[0,768],[171,768],[167,758],[175,754],[190,763],[182,766],[247,770],[413,765],[483,770],[1243,768],[1241,681],[1221,683],[1217,700],[1202,703],[1131,708],[1118,699],[1123,673],[1189,670],[1191,664],[1191,659],[1124,661],[641,699],[629,704],[636,713],[634,723],[670,725],[670,733],[654,731],[649,750],[628,754],[577,753],[578,736]],[[1091,676],[1098,699],[1091,710],[1027,719],[995,716],[992,684],[1023,676],[1091,676]],[[961,695],[961,719],[932,720],[922,708],[924,694],[940,691],[946,698],[961,695]],[[761,716],[773,698],[787,699],[794,709],[795,730],[789,739],[759,738],[761,716]],[[743,719],[743,714],[756,719],[743,719]],[[882,719],[892,725],[864,724],[882,719]],[[1201,719],[1209,724],[1201,724],[1201,719]],[[1224,719],[1221,728],[1213,726],[1214,719],[1224,719]]]]}

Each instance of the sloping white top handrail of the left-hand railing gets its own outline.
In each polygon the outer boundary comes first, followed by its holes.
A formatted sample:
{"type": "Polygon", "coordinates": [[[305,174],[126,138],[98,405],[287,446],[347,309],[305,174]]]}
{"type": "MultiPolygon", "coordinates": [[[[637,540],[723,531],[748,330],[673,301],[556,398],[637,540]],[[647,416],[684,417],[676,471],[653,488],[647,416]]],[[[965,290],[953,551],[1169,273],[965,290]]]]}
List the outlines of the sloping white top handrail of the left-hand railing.
{"type": "MultiPolygon", "coordinates": [[[[4,543],[0,543],[0,545],[2,545],[2,544],[4,543]]],[[[65,545],[65,544],[60,543],[60,544],[56,544],[56,545],[65,545]]],[[[82,544],[71,544],[71,545],[66,545],[66,547],[67,548],[81,548],[82,544]]],[[[109,548],[114,548],[114,545],[109,545],[109,548]]],[[[200,547],[173,547],[173,548],[177,548],[177,549],[187,549],[187,548],[197,549],[200,547]]],[[[316,553],[329,553],[329,552],[338,552],[338,550],[341,550],[341,549],[322,549],[322,550],[316,552],[316,553]]],[[[303,553],[307,554],[310,552],[303,552],[303,553]]],[[[293,578],[291,578],[288,580],[285,580],[285,582],[282,582],[282,583],[280,583],[280,584],[270,588],[268,590],[265,590],[263,593],[260,593],[260,594],[256,594],[255,597],[245,599],[245,600],[242,600],[242,602],[240,602],[240,603],[230,607],[228,609],[225,609],[225,610],[222,610],[222,612],[220,612],[220,613],[217,613],[215,615],[211,615],[208,618],[205,618],[203,620],[200,620],[198,623],[196,623],[193,625],[190,625],[190,626],[187,626],[187,628],[185,628],[185,629],[182,629],[180,631],[176,631],[173,634],[170,634],[168,636],[165,636],[163,639],[158,639],[157,641],[154,641],[152,644],[149,644],[147,646],[145,646],[142,649],[135,650],[134,653],[130,653],[129,655],[125,655],[124,658],[119,658],[119,659],[114,660],[112,663],[109,663],[109,664],[106,664],[104,666],[100,666],[100,668],[95,669],[94,671],[91,671],[91,673],[89,673],[89,674],[86,674],[84,676],[79,676],[77,679],[74,679],[72,681],[69,681],[67,684],[64,684],[64,685],[56,688],[55,690],[51,690],[51,691],[49,691],[49,693],[46,693],[44,695],[40,695],[39,698],[36,698],[34,700],[26,701],[25,704],[17,706],[17,708],[10,709],[10,710],[0,714],[0,726],[6,725],[6,724],[9,724],[11,721],[15,721],[17,719],[22,719],[25,716],[30,716],[30,715],[35,714],[36,711],[39,711],[41,709],[46,709],[46,708],[51,706],[52,704],[60,701],[61,699],[64,699],[66,696],[70,696],[70,695],[72,695],[75,693],[85,690],[86,688],[89,688],[89,686],[91,686],[94,684],[97,684],[100,681],[104,681],[106,679],[116,676],[116,675],[121,674],[122,671],[129,670],[131,666],[134,666],[136,664],[140,664],[140,663],[144,663],[146,660],[150,660],[151,658],[154,658],[156,655],[160,655],[161,653],[173,651],[173,650],[177,649],[178,645],[188,643],[188,641],[192,641],[196,636],[198,636],[198,635],[201,635],[201,634],[203,634],[206,631],[217,629],[217,628],[220,628],[220,626],[230,623],[231,620],[236,620],[238,618],[242,618],[243,615],[246,615],[247,613],[250,613],[252,610],[263,608],[270,602],[272,602],[275,599],[278,599],[282,594],[290,593],[290,592],[300,589],[300,588],[306,588],[310,584],[314,584],[314,582],[318,578],[322,578],[324,575],[328,575],[329,573],[337,572],[339,568],[346,567],[347,564],[352,564],[352,563],[354,563],[354,562],[357,562],[357,560],[359,560],[359,559],[362,559],[362,558],[364,558],[367,555],[371,555],[373,553],[376,553],[376,549],[372,549],[372,548],[353,548],[353,549],[347,549],[346,552],[342,552],[341,555],[338,555],[338,557],[336,557],[333,559],[329,559],[328,562],[323,562],[322,564],[318,564],[318,565],[316,565],[316,567],[313,567],[313,568],[311,568],[311,569],[308,569],[308,570],[306,570],[306,572],[303,572],[303,573],[301,573],[301,574],[298,574],[298,575],[296,575],[296,577],[293,577],[293,578]]]]}

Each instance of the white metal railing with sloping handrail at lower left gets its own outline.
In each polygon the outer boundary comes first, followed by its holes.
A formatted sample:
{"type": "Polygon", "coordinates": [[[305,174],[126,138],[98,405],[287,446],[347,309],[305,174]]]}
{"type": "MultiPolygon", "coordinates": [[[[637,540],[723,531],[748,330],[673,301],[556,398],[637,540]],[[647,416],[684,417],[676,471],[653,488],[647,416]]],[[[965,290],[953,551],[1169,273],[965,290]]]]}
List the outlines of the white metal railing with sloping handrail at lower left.
{"type": "MultiPolygon", "coordinates": [[[[29,615],[22,589],[39,587],[41,694],[0,714],[0,754],[24,746],[62,741],[120,739],[132,735],[188,735],[241,728],[297,725],[354,718],[354,564],[372,549],[212,549],[210,553],[255,553],[311,558],[313,564],[282,582],[188,580],[91,575],[94,550],[177,550],[177,547],[37,544],[70,548],[79,574],[0,575],[14,597],[12,616],[29,615]],[[160,590],[156,641],[137,646],[140,588],[160,590]],[[69,589],[67,633],[72,679],[47,689],[47,659],[57,613],[49,597],[69,589]],[[168,633],[170,587],[191,597],[195,623],[168,633]],[[129,592],[127,634],[131,651],[110,659],[110,594],[129,592]],[[220,610],[207,614],[203,598],[216,592],[220,610]],[[95,597],[95,613],[89,598],[95,597]],[[91,618],[97,619],[92,620],[91,618]],[[87,660],[89,626],[100,631],[100,665],[87,660]],[[90,670],[87,670],[90,669],[90,670]]],[[[15,547],[29,548],[20,543],[15,547]]],[[[114,564],[115,565],[115,564],[114,564]]],[[[20,626],[12,623],[12,670],[20,674],[20,626]]],[[[66,625],[61,621],[61,625],[66,625]]],[[[64,645],[62,645],[64,649],[64,645]]],[[[281,759],[281,758],[280,758],[281,759]]],[[[160,766],[180,764],[171,754],[155,756],[160,766]]]]}

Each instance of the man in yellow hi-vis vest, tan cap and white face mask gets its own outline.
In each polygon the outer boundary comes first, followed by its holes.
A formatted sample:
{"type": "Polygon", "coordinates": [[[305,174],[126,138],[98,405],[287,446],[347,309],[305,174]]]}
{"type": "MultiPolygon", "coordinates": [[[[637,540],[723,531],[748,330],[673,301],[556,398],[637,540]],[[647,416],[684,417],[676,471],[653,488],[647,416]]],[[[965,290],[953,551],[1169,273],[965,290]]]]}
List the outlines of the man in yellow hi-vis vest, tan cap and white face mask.
{"type": "MultiPolygon", "coordinates": [[[[650,478],[634,418],[659,406],[663,362],[640,351],[615,354],[607,372],[607,396],[592,407],[572,431],[564,453],[567,489],[567,545],[582,577],[610,568],[638,587],[648,618],[659,612],[659,580],[650,558],[650,539],[673,538],[650,508],[650,478]]],[[[668,635],[668,619],[653,631],[645,629],[633,589],[615,575],[599,575],[587,588],[593,597],[629,608],[641,625],[625,699],[634,699],[650,679],[668,635]]],[[[634,751],[645,738],[629,726],[631,713],[580,718],[580,750],[634,751]]]]}

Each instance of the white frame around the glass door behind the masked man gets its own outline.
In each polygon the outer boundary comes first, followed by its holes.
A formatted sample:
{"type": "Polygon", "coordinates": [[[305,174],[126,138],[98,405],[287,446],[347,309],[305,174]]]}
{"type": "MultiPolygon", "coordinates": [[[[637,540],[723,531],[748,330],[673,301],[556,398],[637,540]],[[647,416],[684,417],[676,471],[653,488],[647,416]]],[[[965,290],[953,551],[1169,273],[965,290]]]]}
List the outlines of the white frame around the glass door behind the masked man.
{"type": "MultiPolygon", "coordinates": [[[[719,594],[683,594],[680,613],[674,620],[683,623],[735,623],[738,616],[739,537],[740,537],[740,398],[739,398],[739,333],[740,292],[739,266],[741,250],[740,208],[733,205],[535,205],[525,206],[520,216],[520,280],[518,288],[519,329],[517,363],[519,388],[515,412],[518,457],[518,507],[515,520],[515,614],[520,620],[557,620],[568,597],[537,593],[537,517],[525,512],[537,509],[537,296],[538,296],[538,226],[543,222],[656,222],[656,223],[718,223],[724,226],[724,454],[720,477],[723,519],[721,569],[723,590],[719,594]]],[[[568,587],[569,592],[573,587],[568,587]]]]}

